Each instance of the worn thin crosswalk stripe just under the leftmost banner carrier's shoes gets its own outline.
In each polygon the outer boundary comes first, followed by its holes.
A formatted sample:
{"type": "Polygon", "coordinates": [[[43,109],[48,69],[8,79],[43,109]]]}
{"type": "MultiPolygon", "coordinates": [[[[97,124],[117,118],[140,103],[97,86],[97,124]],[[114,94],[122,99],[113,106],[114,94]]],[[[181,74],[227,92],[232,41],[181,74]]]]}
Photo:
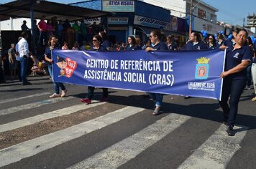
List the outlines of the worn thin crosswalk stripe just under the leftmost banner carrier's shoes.
{"type": "Polygon", "coordinates": [[[48,105],[48,104],[51,104],[51,103],[70,100],[70,99],[73,99],[73,98],[76,98],[76,97],[73,97],[73,96],[55,97],[55,98],[52,98],[50,100],[42,100],[40,102],[32,102],[32,103],[29,103],[27,105],[19,105],[19,106],[15,106],[15,107],[10,107],[8,109],[0,110],[0,115],[9,115],[9,114],[12,114],[14,112],[18,112],[18,111],[22,111],[22,110],[29,110],[29,109],[32,109],[32,108],[40,107],[42,105],[48,105]]]}

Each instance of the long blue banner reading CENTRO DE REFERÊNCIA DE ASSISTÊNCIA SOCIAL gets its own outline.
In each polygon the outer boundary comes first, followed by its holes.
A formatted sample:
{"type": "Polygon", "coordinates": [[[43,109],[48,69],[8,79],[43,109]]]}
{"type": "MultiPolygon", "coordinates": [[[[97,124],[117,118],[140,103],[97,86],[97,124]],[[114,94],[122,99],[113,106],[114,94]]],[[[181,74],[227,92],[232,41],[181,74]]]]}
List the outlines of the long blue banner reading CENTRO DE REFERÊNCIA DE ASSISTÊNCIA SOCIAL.
{"type": "Polygon", "coordinates": [[[54,50],[53,80],[219,100],[221,50],[94,52],[54,50]]]}

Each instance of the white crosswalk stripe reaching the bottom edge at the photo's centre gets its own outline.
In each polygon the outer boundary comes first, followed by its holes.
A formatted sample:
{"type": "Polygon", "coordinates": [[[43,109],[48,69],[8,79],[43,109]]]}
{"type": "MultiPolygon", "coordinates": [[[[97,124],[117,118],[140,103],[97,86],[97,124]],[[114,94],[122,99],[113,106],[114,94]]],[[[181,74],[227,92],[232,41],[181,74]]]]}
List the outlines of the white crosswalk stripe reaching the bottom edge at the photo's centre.
{"type": "Polygon", "coordinates": [[[142,151],[149,148],[163,137],[173,132],[190,117],[186,115],[170,114],[157,120],[154,124],[127,137],[126,139],[102,150],[96,155],[71,166],[68,169],[78,168],[117,168],[135,158],[142,151]]]}

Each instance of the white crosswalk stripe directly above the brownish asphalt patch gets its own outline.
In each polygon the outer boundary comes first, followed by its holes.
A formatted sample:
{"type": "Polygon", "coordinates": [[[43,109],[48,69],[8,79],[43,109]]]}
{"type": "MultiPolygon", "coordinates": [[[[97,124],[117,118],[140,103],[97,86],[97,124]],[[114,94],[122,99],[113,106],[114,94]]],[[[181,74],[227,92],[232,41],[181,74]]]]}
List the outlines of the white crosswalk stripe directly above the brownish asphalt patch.
{"type": "Polygon", "coordinates": [[[91,107],[96,107],[96,106],[99,106],[99,105],[103,105],[106,102],[93,101],[92,103],[93,104],[90,104],[90,105],[86,105],[86,104],[74,105],[74,106],[66,107],[66,108],[63,108],[63,109],[60,109],[60,110],[47,112],[47,113],[44,113],[42,115],[37,115],[37,116],[34,116],[34,117],[29,117],[29,118],[22,119],[22,120],[17,120],[17,121],[14,121],[14,122],[9,122],[9,123],[6,123],[4,125],[0,125],[0,132],[6,132],[6,131],[9,131],[9,130],[14,130],[16,128],[24,127],[26,125],[32,125],[32,124],[35,124],[36,122],[42,122],[43,120],[47,120],[47,119],[50,119],[50,118],[53,118],[53,117],[59,117],[59,116],[63,116],[63,115],[70,115],[73,112],[78,112],[79,110],[86,110],[86,109],[91,108],[91,107]]]}

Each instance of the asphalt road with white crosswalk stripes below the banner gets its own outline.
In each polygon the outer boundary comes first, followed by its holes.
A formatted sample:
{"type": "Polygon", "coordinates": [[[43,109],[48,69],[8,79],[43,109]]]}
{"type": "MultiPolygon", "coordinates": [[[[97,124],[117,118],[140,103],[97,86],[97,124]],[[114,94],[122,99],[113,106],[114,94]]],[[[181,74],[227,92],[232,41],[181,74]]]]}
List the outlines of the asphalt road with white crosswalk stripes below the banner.
{"type": "Polygon", "coordinates": [[[142,92],[109,90],[109,102],[80,102],[66,84],[50,99],[45,77],[0,84],[0,168],[255,168],[256,102],[244,90],[236,135],[228,137],[216,100],[166,95],[162,114],[142,92]],[[173,97],[174,100],[171,99],[173,97]]]}

